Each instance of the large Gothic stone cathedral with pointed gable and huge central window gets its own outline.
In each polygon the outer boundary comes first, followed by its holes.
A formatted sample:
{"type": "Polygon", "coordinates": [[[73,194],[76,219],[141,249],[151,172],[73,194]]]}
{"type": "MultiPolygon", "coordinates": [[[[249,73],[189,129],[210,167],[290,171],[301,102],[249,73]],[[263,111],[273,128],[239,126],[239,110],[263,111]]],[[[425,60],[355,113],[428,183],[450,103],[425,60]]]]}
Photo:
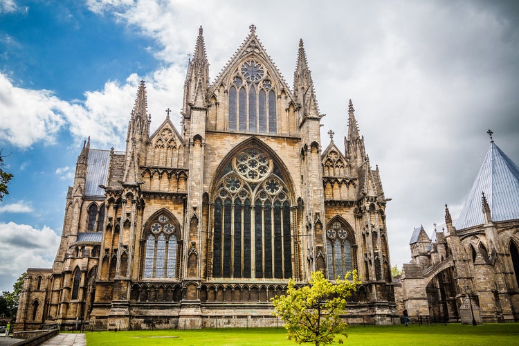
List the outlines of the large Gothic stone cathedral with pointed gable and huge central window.
{"type": "Polygon", "coordinates": [[[141,82],[125,151],[84,144],[53,268],[28,269],[16,328],[275,326],[290,278],[354,269],[347,321],[398,324],[388,199],[354,111],[344,147],[329,131],[323,149],[302,41],[292,88],[253,25],[210,82],[200,28],[179,128],[168,109],[150,133],[141,82]]]}

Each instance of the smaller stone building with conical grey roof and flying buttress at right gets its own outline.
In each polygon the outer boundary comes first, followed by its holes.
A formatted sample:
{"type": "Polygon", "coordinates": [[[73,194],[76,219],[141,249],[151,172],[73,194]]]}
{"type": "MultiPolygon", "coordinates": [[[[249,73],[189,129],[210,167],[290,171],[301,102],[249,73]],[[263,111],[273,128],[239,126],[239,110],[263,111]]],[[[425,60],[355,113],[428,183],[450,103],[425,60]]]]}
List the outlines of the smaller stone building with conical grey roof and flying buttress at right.
{"type": "Polygon", "coordinates": [[[429,237],[415,228],[412,260],[395,291],[413,316],[433,321],[519,320],[519,167],[492,139],[456,220],[429,237]]]}

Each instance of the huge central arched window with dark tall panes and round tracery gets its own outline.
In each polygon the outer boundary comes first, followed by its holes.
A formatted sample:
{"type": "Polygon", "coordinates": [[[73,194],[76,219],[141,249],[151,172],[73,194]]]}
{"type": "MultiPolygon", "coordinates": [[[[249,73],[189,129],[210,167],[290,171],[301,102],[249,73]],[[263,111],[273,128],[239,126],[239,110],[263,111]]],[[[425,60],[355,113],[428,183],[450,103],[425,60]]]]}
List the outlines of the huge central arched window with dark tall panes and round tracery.
{"type": "Polygon", "coordinates": [[[215,188],[212,276],[292,277],[290,192],[272,158],[242,150],[215,188]]]}

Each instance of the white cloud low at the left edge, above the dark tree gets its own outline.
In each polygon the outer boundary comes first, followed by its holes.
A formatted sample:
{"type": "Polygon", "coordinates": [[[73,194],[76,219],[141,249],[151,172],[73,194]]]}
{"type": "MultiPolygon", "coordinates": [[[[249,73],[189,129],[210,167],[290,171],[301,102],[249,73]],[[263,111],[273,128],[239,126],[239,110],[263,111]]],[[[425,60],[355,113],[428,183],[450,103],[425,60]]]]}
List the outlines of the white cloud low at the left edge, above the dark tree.
{"type": "MultiPolygon", "coordinates": [[[[38,230],[14,222],[0,223],[0,239],[2,275],[10,275],[13,282],[27,268],[51,268],[60,245],[60,237],[51,228],[38,230]]],[[[9,288],[8,282],[1,285],[9,288]]]]}

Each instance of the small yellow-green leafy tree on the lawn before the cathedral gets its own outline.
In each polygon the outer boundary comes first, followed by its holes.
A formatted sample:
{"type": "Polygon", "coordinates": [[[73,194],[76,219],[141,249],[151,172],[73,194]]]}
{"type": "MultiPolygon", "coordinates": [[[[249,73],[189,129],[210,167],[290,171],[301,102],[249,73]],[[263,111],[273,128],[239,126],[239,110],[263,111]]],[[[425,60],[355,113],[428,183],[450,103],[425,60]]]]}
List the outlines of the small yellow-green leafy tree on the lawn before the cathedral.
{"type": "Polygon", "coordinates": [[[347,323],[340,319],[345,314],[346,298],[357,290],[356,271],[347,273],[332,284],[320,271],[311,274],[309,285],[296,287],[289,280],[286,295],[272,298],[274,316],[285,322],[287,338],[296,343],[326,345],[334,341],[336,334],[347,337],[347,323]],[[351,277],[351,280],[348,280],[351,277]]]}

